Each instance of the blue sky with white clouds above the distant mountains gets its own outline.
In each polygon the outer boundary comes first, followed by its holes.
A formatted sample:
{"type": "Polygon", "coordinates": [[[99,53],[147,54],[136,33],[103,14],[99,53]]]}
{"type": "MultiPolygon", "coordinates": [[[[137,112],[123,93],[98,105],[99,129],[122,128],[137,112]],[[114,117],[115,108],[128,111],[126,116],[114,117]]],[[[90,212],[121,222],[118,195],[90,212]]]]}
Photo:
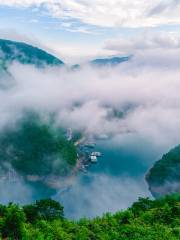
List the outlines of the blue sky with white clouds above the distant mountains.
{"type": "Polygon", "coordinates": [[[67,63],[180,47],[179,0],[0,0],[0,37],[67,63]]]}

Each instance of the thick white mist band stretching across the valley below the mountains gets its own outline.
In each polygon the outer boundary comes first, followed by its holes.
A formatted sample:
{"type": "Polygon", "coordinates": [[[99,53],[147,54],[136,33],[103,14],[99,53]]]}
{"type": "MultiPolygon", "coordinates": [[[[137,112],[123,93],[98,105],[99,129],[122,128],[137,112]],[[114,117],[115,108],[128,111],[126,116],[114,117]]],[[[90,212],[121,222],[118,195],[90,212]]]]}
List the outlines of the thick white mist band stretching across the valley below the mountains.
{"type": "Polygon", "coordinates": [[[173,58],[161,61],[160,53],[151,53],[116,68],[86,66],[77,71],[15,63],[9,69],[12,86],[0,92],[0,124],[33,109],[55,112],[57,124],[88,134],[130,131],[172,145],[179,142],[177,58],[178,52],[173,64],[173,58]]]}

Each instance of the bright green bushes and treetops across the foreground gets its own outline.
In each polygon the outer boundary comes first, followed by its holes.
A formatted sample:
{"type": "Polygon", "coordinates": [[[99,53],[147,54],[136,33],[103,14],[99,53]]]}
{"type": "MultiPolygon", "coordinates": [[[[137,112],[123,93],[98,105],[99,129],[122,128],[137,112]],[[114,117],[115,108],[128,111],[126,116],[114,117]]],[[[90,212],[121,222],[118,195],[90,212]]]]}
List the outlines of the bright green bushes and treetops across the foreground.
{"type": "Polygon", "coordinates": [[[51,200],[23,208],[1,205],[0,233],[22,240],[179,240],[180,195],[158,200],[140,198],[126,211],[70,221],[51,200]]]}

